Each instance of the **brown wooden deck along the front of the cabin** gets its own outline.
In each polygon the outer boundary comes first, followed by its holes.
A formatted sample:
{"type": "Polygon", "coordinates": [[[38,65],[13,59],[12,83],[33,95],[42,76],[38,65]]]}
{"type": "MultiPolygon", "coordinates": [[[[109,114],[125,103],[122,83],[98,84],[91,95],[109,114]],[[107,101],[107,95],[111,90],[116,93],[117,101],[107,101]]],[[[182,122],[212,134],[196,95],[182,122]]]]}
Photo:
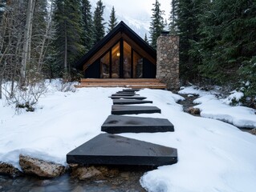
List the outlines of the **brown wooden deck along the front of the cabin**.
{"type": "Polygon", "coordinates": [[[166,84],[157,78],[81,78],[80,84],[76,88],[82,87],[127,87],[133,89],[166,89],[166,84]]]}

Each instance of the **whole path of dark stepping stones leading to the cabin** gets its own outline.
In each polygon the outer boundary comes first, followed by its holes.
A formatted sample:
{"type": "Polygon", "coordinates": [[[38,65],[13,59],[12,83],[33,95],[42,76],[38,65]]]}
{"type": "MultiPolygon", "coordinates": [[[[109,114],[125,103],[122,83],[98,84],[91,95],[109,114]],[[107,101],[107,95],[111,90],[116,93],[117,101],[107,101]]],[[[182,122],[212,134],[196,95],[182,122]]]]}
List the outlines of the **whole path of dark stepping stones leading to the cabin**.
{"type": "Polygon", "coordinates": [[[173,124],[162,118],[138,118],[122,114],[161,113],[156,106],[126,106],[124,104],[145,103],[144,97],[134,96],[137,90],[122,90],[112,95],[113,106],[110,115],[102,126],[109,134],[99,134],[90,141],[67,154],[67,163],[79,165],[125,165],[163,166],[177,162],[177,149],[141,142],[115,134],[155,133],[174,131],[173,124]],[[133,96],[132,96],[133,95],[133,96]],[[113,115],[116,114],[116,115],[113,115]]]}

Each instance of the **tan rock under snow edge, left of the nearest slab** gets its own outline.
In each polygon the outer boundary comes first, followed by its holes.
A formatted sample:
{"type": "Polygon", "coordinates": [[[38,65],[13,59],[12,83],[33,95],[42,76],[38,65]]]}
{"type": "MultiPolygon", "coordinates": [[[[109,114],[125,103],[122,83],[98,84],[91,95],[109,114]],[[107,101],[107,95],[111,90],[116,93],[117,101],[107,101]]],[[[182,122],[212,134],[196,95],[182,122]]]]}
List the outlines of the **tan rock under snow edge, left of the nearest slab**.
{"type": "Polygon", "coordinates": [[[56,178],[65,172],[65,167],[60,164],[22,154],[19,155],[19,165],[25,174],[35,174],[42,178],[56,178]]]}

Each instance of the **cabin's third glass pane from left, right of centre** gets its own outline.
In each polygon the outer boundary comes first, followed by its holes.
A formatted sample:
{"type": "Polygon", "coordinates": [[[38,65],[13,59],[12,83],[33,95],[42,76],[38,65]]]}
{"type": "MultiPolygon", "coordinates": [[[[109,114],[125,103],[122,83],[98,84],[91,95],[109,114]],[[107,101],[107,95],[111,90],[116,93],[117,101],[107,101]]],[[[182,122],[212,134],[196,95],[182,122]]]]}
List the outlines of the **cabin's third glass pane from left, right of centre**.
{"type": "Polygon", "coordinates": [[[131,78],[132,47],[124,42],[124,78],[131,78]]]}

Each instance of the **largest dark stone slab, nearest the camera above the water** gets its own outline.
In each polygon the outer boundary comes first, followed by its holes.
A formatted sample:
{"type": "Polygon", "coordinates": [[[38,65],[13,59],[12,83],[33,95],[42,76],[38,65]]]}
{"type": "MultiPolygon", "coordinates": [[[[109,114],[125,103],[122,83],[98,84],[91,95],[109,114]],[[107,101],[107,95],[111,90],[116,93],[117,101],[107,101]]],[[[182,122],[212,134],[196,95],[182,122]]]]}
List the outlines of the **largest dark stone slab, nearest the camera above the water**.
{"type": "Polygon", "coordinates": [[[177,149],[113,134],[99,134],[67,154],[80,165],[164,166],[177,162],[177,149]]]}

